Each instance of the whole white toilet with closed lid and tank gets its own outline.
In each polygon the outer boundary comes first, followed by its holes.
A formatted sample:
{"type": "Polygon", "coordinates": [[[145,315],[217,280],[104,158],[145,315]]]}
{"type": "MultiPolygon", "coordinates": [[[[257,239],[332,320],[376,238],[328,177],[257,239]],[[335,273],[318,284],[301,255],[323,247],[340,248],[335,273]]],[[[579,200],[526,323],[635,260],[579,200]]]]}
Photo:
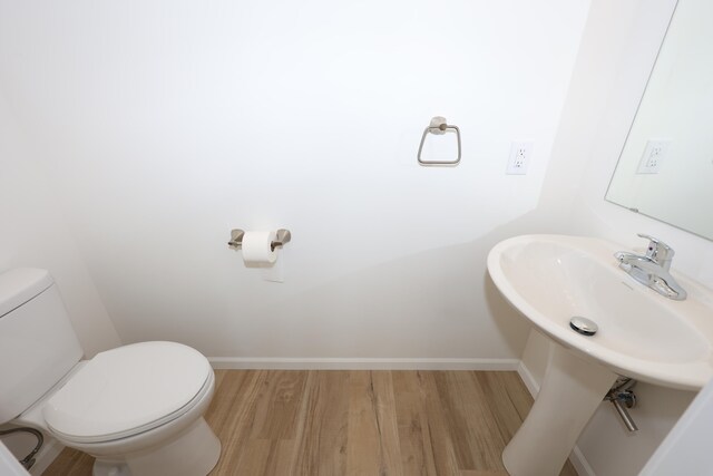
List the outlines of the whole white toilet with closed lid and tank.
{"type": "Polygon", "coordinates": [[[96,476],[211,472],[221,441],[203,418],[215,385],[204,356],[141,342],[81,357],[49,272],[0,274],[0,424],[95,456],[96,476]]]}

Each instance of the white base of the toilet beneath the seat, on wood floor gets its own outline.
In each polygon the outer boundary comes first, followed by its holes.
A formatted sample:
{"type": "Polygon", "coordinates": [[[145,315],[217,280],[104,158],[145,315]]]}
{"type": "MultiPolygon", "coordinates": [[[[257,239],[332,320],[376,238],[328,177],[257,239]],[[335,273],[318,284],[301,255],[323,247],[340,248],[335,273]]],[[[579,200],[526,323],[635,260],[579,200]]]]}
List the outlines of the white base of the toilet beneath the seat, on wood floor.
{"type": "Polygon", "coordinates": [[[221,457],[221,441],[203,417],[166,444],[121,458],[97,457],[94,476],[207,475],[221,457]]]}

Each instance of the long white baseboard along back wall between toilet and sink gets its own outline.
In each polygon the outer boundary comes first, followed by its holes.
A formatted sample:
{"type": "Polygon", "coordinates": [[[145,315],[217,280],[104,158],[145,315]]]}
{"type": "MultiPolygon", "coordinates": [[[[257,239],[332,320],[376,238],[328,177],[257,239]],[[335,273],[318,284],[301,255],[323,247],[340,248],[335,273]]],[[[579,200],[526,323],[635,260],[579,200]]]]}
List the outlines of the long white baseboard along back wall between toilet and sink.
{"type": "Polygon", "coordinates": [[[260,370],[518,370],[519,359],[373,359],[208,357],[214,369],[260,370]]]}

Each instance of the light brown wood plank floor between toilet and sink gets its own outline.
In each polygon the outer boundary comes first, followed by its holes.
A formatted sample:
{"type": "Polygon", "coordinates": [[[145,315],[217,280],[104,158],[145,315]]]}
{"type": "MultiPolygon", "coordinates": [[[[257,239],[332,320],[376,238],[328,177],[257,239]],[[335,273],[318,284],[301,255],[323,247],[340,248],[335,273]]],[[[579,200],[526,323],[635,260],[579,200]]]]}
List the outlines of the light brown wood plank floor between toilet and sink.
{"type": "MultiPolygon", "coordinates": [[[[531,404],[515,372],[217,370],[211,474],[507,476],[500,453],[531,404]]],[[[65,449],[45,475],[91,465],[65,449]]]]}

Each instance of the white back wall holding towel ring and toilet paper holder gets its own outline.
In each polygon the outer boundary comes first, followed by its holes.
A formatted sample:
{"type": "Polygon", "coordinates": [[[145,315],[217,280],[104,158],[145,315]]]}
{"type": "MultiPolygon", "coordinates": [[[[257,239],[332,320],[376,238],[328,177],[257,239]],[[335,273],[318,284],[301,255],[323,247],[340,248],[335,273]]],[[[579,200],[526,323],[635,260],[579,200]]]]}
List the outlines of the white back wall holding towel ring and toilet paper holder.
{"type": "Polygon", "coordinates": [[[485,258],[537,205],[587,8],[0,1],[0,85],[125,342],[512,359],[527,327],[485,258]],[[416,163],[434,115],[456,168],[416,163]],[[505,175],[514,139],[527,176],[505,175]],[[292,231],[285,283],[232,227],[292,231]]]}

